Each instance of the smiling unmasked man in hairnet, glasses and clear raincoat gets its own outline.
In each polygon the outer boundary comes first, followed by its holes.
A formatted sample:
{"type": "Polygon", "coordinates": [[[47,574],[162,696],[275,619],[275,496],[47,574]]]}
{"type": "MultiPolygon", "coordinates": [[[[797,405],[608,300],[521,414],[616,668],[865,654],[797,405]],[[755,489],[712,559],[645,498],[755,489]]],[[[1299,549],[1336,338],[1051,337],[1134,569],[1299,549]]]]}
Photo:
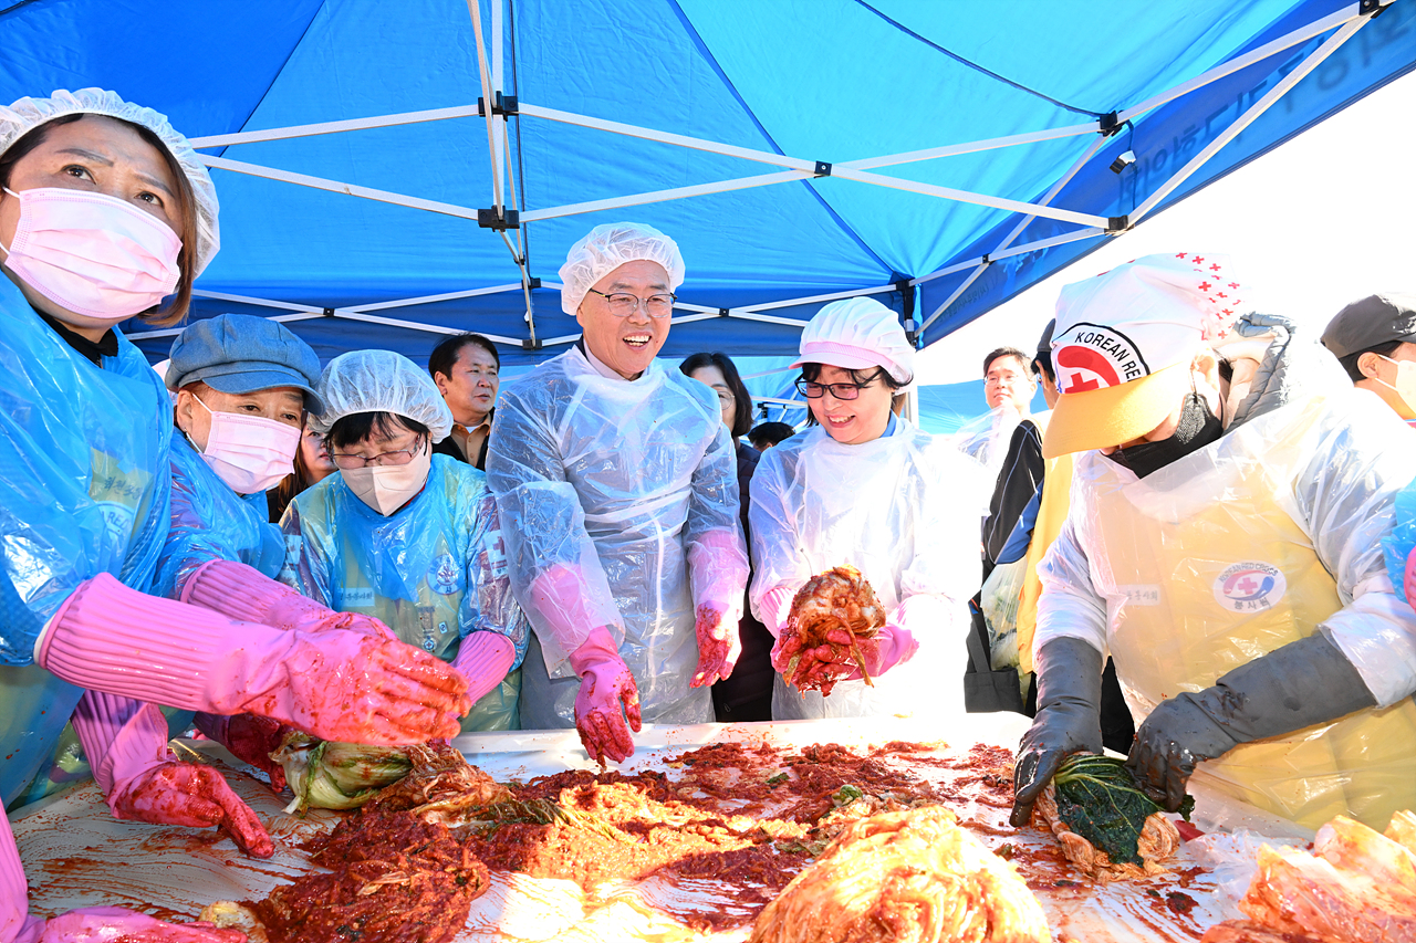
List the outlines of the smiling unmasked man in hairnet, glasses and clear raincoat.
{"type": "Polygon", "coordinates": [[[595,759],[630,728],[714,719],[732,673],[748,554],[718,398],[654,360],[684,261],[633,222],[600,225],[561,268],[575,347],[503,391],[487,477],[534,627],[524,728],[575,726],[595,759]],[[627,719],[627,722],[626,722],[627,719]]]}

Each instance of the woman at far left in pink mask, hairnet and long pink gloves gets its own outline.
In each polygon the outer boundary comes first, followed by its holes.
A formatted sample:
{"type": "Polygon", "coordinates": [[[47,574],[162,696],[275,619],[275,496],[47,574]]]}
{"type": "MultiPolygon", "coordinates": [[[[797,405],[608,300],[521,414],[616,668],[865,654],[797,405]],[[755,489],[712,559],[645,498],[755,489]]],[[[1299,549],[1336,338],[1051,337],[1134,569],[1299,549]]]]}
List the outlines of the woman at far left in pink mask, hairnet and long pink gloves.
{"type": "MultiPolygon", "coordinates": [[[[112,92],[25,98],[0,108],[0,799],[23,793],[85,688],[323,736],[449,732],[462,680],[404,646],[314,640],[147,595],[170,524],[171,402],[115,326],[180,319],[217,252],[215,193],[187,140],[112,92]]],[[[147,749],[127,719],[102,722],[106,756],[147,749]]],[[[160,814],[224,814],[204,797],[214,780],[188,770],[174,790],[167,769],[159,759],[146,777],[160,814]]],[[[0,943],[236,939],[112,908],[47,922],[25,896],[0,820],[0,943]]]]}

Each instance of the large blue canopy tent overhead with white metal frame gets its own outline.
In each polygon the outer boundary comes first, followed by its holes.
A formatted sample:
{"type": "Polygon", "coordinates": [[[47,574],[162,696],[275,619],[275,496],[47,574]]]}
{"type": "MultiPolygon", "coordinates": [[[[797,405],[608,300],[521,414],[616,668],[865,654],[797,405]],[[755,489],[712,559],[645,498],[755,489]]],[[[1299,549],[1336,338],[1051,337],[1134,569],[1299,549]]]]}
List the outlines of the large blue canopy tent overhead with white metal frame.
{"type": "Polygon", "coordinates": [[[0,101],[112,88],[207,156],[195,317],[527,364],[617,219],[687,259],[666,355],[783,355],[852,295],[937,341],[1409,71],[1416,0],[21,0],[0,35],[0,101]]]}

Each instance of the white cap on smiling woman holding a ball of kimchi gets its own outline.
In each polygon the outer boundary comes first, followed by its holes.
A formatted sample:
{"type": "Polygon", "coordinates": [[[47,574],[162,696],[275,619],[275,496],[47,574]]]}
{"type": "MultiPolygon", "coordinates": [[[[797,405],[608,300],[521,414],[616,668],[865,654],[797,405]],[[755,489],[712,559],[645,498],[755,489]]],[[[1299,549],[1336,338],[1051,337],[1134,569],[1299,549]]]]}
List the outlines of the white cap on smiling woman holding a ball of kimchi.
{"type": "Polygon", "coordinates": [[[915,379],[915,348],[899,316],[871,297],[831,302],[817,312],[801,328],[801,355],[792,365],[801,364],[884,367],[898,384],[915,379]]]}

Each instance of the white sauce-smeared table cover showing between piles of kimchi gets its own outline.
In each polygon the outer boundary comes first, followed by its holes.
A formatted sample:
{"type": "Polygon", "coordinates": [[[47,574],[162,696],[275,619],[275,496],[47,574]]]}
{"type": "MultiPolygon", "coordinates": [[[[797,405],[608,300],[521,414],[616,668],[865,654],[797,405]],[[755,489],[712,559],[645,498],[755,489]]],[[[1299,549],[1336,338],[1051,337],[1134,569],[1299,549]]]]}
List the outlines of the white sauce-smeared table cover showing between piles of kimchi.
{"type": "MultiPolygon", "coordinates": [[[[976,743],[1012,749],[1027,726],[1028,718],[1012,714],[963,715],[943,726],[899,718],[646,726],[636,736],[634,756],[620,769],[666,769],[666,759],[722,741],[766,741],[782,748],[943,741],[949,746],[942,752],[961,755],[976,743]]],[[[472,733],[455,745],[498,780],[595,769],[575,731],[472,733]]],[[[222,748],[205,742],[187,746],[193,749],[180,748],[180,752],[231,767],[228,780],[266,823],[275,840],[275,857],[269,861],[245,858],[229,840],[211,830],[118,821],[89,782],[11,816],[30,879],[33,913],[118,905],[167,919],[193,919],[207,903],[261,898],[283,879],[312,868],[297,844],[331,827],[340,813],[316,810],[303,820],[287,816],[282,811],[287,797],[273,796],[255,770],[222,748]]],[[[936,769],[918,772],[949,775],[936,769]]],[[[1198,800],[1195,824],[1202,830],[1247,828],[1266,837],[1311,837],[1291,823],[1235,806],[1208,791],[1202,776],[1192,780],[1192,786],[1198,800]]],[[[988,847],[1011,842],[1027,851],[1054,845],[1051,835],[1038,830],[1011,830],[1005,808],[967,803],[956,813],[988,847]]],[[[1233,908],[1233,896],[1206,867],[1214,858],[1198,854],[1195,845],[1187,842],[1172,874],[1138,882],[1100,886],[1054,867],[1045,879],[1034,882],[1054,939],[1058,943],[1197,940],[1209,925],[1242,916],[1233,908]]],[[[675,918],[675,913],[735,906],[732,888],[711,881],[680,878],[670,884],[650,878],[605,885],[586,895],[568,881],[493,872],[491,888],[473,903],[467,927],[456,940],[745,940],[750,923],[704,935],[675,918]]]]}

